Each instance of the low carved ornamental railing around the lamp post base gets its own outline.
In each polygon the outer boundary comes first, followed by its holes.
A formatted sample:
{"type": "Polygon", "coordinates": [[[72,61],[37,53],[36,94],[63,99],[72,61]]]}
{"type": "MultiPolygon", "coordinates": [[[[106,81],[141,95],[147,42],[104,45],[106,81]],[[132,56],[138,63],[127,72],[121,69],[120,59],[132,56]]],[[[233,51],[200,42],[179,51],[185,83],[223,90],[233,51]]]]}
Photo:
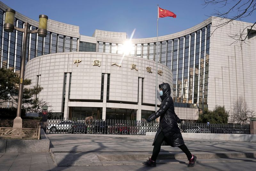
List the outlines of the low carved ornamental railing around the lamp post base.
{"type": "Polygon", "coordinates": [[[40,128],[39,123],[37,123],[37,128],[0,127],[0,137],[39,139],[40,128]]]}

